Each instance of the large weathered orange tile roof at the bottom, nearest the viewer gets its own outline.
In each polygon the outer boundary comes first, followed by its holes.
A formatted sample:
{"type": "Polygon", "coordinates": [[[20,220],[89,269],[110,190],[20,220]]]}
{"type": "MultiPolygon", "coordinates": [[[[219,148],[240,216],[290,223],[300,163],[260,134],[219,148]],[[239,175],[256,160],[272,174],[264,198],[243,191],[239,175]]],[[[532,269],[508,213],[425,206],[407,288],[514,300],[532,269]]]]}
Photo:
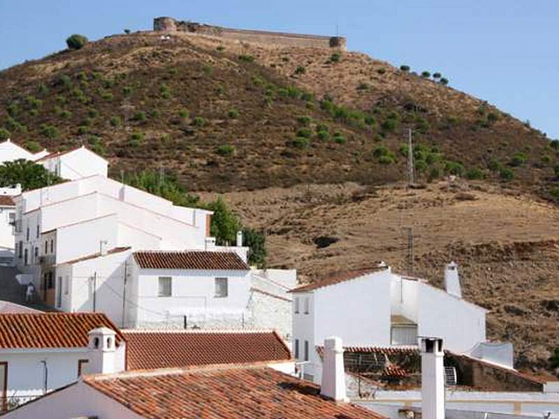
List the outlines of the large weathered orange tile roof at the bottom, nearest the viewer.
{"type": "Polygon", "coordinates": [[[325,399],[318,385],[265,366],[128,372],[84,382],[147,419],[383,418],[325,399]]]}

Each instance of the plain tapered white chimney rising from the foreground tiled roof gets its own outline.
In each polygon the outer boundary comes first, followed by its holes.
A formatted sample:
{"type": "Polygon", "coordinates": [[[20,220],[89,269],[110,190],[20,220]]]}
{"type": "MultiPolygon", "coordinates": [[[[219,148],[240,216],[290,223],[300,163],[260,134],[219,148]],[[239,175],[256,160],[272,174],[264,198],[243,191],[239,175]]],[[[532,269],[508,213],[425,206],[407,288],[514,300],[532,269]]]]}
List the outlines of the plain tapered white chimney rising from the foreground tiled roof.
{"type": "Polygon", "coordinates": [[[320,394],[336,402],[347,402],[345,393],[344,348],[339,337],[324,339],[320,394]]]}

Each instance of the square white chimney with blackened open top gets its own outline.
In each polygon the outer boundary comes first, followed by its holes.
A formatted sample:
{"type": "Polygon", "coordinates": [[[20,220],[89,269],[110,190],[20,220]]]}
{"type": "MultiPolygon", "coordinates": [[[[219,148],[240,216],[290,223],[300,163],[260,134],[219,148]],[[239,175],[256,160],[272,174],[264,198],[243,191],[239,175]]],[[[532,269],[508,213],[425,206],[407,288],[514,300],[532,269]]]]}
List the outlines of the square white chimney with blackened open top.
{"type": "Polygon", "coordinates": [[[444,419],[442,339],[421,338],[421,417],[444,419]]]}

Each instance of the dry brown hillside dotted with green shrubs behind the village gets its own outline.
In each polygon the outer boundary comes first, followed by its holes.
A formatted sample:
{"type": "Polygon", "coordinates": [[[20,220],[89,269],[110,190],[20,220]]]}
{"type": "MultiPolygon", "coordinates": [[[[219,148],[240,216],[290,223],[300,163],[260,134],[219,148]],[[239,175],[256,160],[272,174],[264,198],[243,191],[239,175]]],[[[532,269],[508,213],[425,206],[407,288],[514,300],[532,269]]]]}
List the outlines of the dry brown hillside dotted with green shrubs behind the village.
{"type": "Polygon", "coordinates": [[[519,366],[549,367],[559,346],[559,142],[430,78],[354,52],[143,32],[1,71],[0,127],[32,149],[89,145],[114,177],[164,168],[225,193],[266,233],[269,265],[304,280],[405,270],[413,225],[414,273],[440,285],[460,263],[519,366]],[[408,127],[423,189],[398,183],[408,127]]]}

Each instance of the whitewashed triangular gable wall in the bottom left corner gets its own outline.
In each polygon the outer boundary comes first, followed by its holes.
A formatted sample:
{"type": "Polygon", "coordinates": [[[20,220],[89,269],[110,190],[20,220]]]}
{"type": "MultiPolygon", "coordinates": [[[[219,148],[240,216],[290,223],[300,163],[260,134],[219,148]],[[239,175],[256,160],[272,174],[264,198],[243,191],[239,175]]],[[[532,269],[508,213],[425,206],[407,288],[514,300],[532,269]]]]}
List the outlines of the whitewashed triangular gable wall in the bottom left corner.
{"type": "Polygon", "coordinates": [[[82,381],[10,411],[3,417],[6,419],[143,419],[143,416],[126,409],[122,404],[82,381]]]}

